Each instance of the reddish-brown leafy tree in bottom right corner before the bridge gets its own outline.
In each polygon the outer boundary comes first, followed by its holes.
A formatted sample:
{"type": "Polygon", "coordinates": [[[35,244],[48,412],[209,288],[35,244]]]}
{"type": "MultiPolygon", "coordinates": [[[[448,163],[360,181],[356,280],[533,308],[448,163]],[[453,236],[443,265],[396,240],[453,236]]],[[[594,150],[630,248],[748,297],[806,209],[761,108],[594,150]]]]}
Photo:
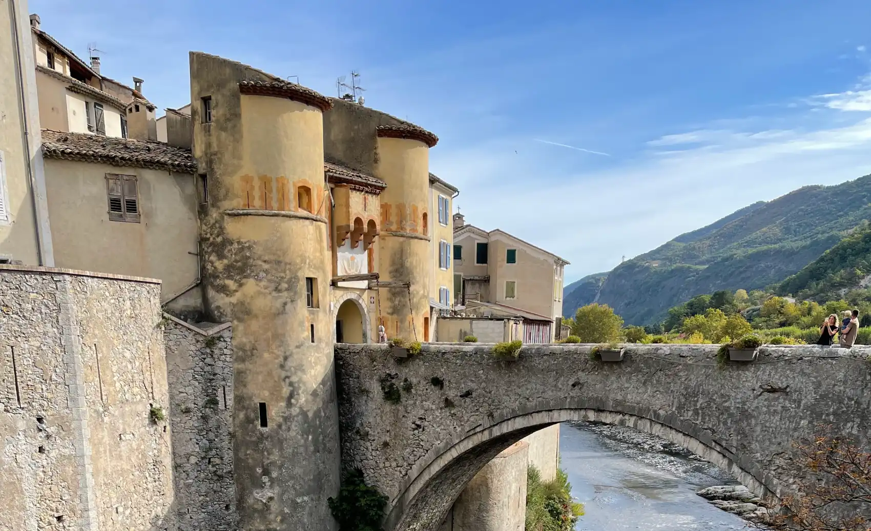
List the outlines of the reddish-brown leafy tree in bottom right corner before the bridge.
{"type": "Polygon", "coordinates": [[[769,525],[799,531],[868,531],[871,528],[871,453],[823,428],[796,444],[812,479],[782,500],[769,525]]]}

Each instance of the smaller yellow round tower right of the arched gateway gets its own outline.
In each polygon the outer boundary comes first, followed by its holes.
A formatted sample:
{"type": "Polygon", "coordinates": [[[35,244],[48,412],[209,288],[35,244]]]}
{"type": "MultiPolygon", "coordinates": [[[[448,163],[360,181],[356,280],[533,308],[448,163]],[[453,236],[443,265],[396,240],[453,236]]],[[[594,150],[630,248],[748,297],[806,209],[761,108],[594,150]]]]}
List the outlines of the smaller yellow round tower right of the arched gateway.
{"type": "MultiPolygon", "coordinates": [[[[381,288],[380,316],[388,337],[423,341],[429,325],[429,147],[438,139],[421,127],[378,126],[375,176],[381,193],[380,280],[409,283],[381,288]]],[[[389,285],[389,284],[388,284],[389,285]]]]}

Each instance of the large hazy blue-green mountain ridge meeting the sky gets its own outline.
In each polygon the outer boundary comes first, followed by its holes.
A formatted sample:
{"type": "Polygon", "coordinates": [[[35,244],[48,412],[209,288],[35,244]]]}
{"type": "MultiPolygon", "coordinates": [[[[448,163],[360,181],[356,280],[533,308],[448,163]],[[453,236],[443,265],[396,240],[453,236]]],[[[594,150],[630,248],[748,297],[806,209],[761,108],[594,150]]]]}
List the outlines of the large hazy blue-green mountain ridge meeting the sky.
{"type": "Polygon", "coordinates": [[[869,203],[871,175],[755,202],[621,263],[595,293],[584,277],[564,296],[564,315],[598,296],[627,324],[653,323],[692,296],[780,283],[871,219],[869,203]]]}

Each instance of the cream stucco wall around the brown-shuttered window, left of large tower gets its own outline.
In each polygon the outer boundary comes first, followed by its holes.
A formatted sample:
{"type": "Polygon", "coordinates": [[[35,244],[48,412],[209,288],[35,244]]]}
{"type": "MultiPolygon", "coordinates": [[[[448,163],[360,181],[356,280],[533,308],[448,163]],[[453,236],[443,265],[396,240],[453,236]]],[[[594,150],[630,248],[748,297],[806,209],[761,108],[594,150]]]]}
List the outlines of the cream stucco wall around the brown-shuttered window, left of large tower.
{"type": "Polygon", "coordinates": [[[45,160],[57,267],[159,278],[162,299],[199,276],[191,174],[45,160]],[[136,175],[140,222],[110,221],[105,174],[136,175]]]}

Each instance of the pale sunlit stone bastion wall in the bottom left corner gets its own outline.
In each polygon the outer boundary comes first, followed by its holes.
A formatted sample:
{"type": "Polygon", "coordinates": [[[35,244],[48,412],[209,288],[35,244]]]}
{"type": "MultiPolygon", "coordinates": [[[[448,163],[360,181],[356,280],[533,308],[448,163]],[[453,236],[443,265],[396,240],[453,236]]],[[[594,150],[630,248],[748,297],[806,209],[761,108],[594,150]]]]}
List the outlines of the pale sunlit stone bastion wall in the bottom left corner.
{"type": "Polygon", "coordinates": [[[0,265],[0,522],[176,528],[160,283],[0,265]],[[152,415],[152,412],[155,412],[152,415]]]}

